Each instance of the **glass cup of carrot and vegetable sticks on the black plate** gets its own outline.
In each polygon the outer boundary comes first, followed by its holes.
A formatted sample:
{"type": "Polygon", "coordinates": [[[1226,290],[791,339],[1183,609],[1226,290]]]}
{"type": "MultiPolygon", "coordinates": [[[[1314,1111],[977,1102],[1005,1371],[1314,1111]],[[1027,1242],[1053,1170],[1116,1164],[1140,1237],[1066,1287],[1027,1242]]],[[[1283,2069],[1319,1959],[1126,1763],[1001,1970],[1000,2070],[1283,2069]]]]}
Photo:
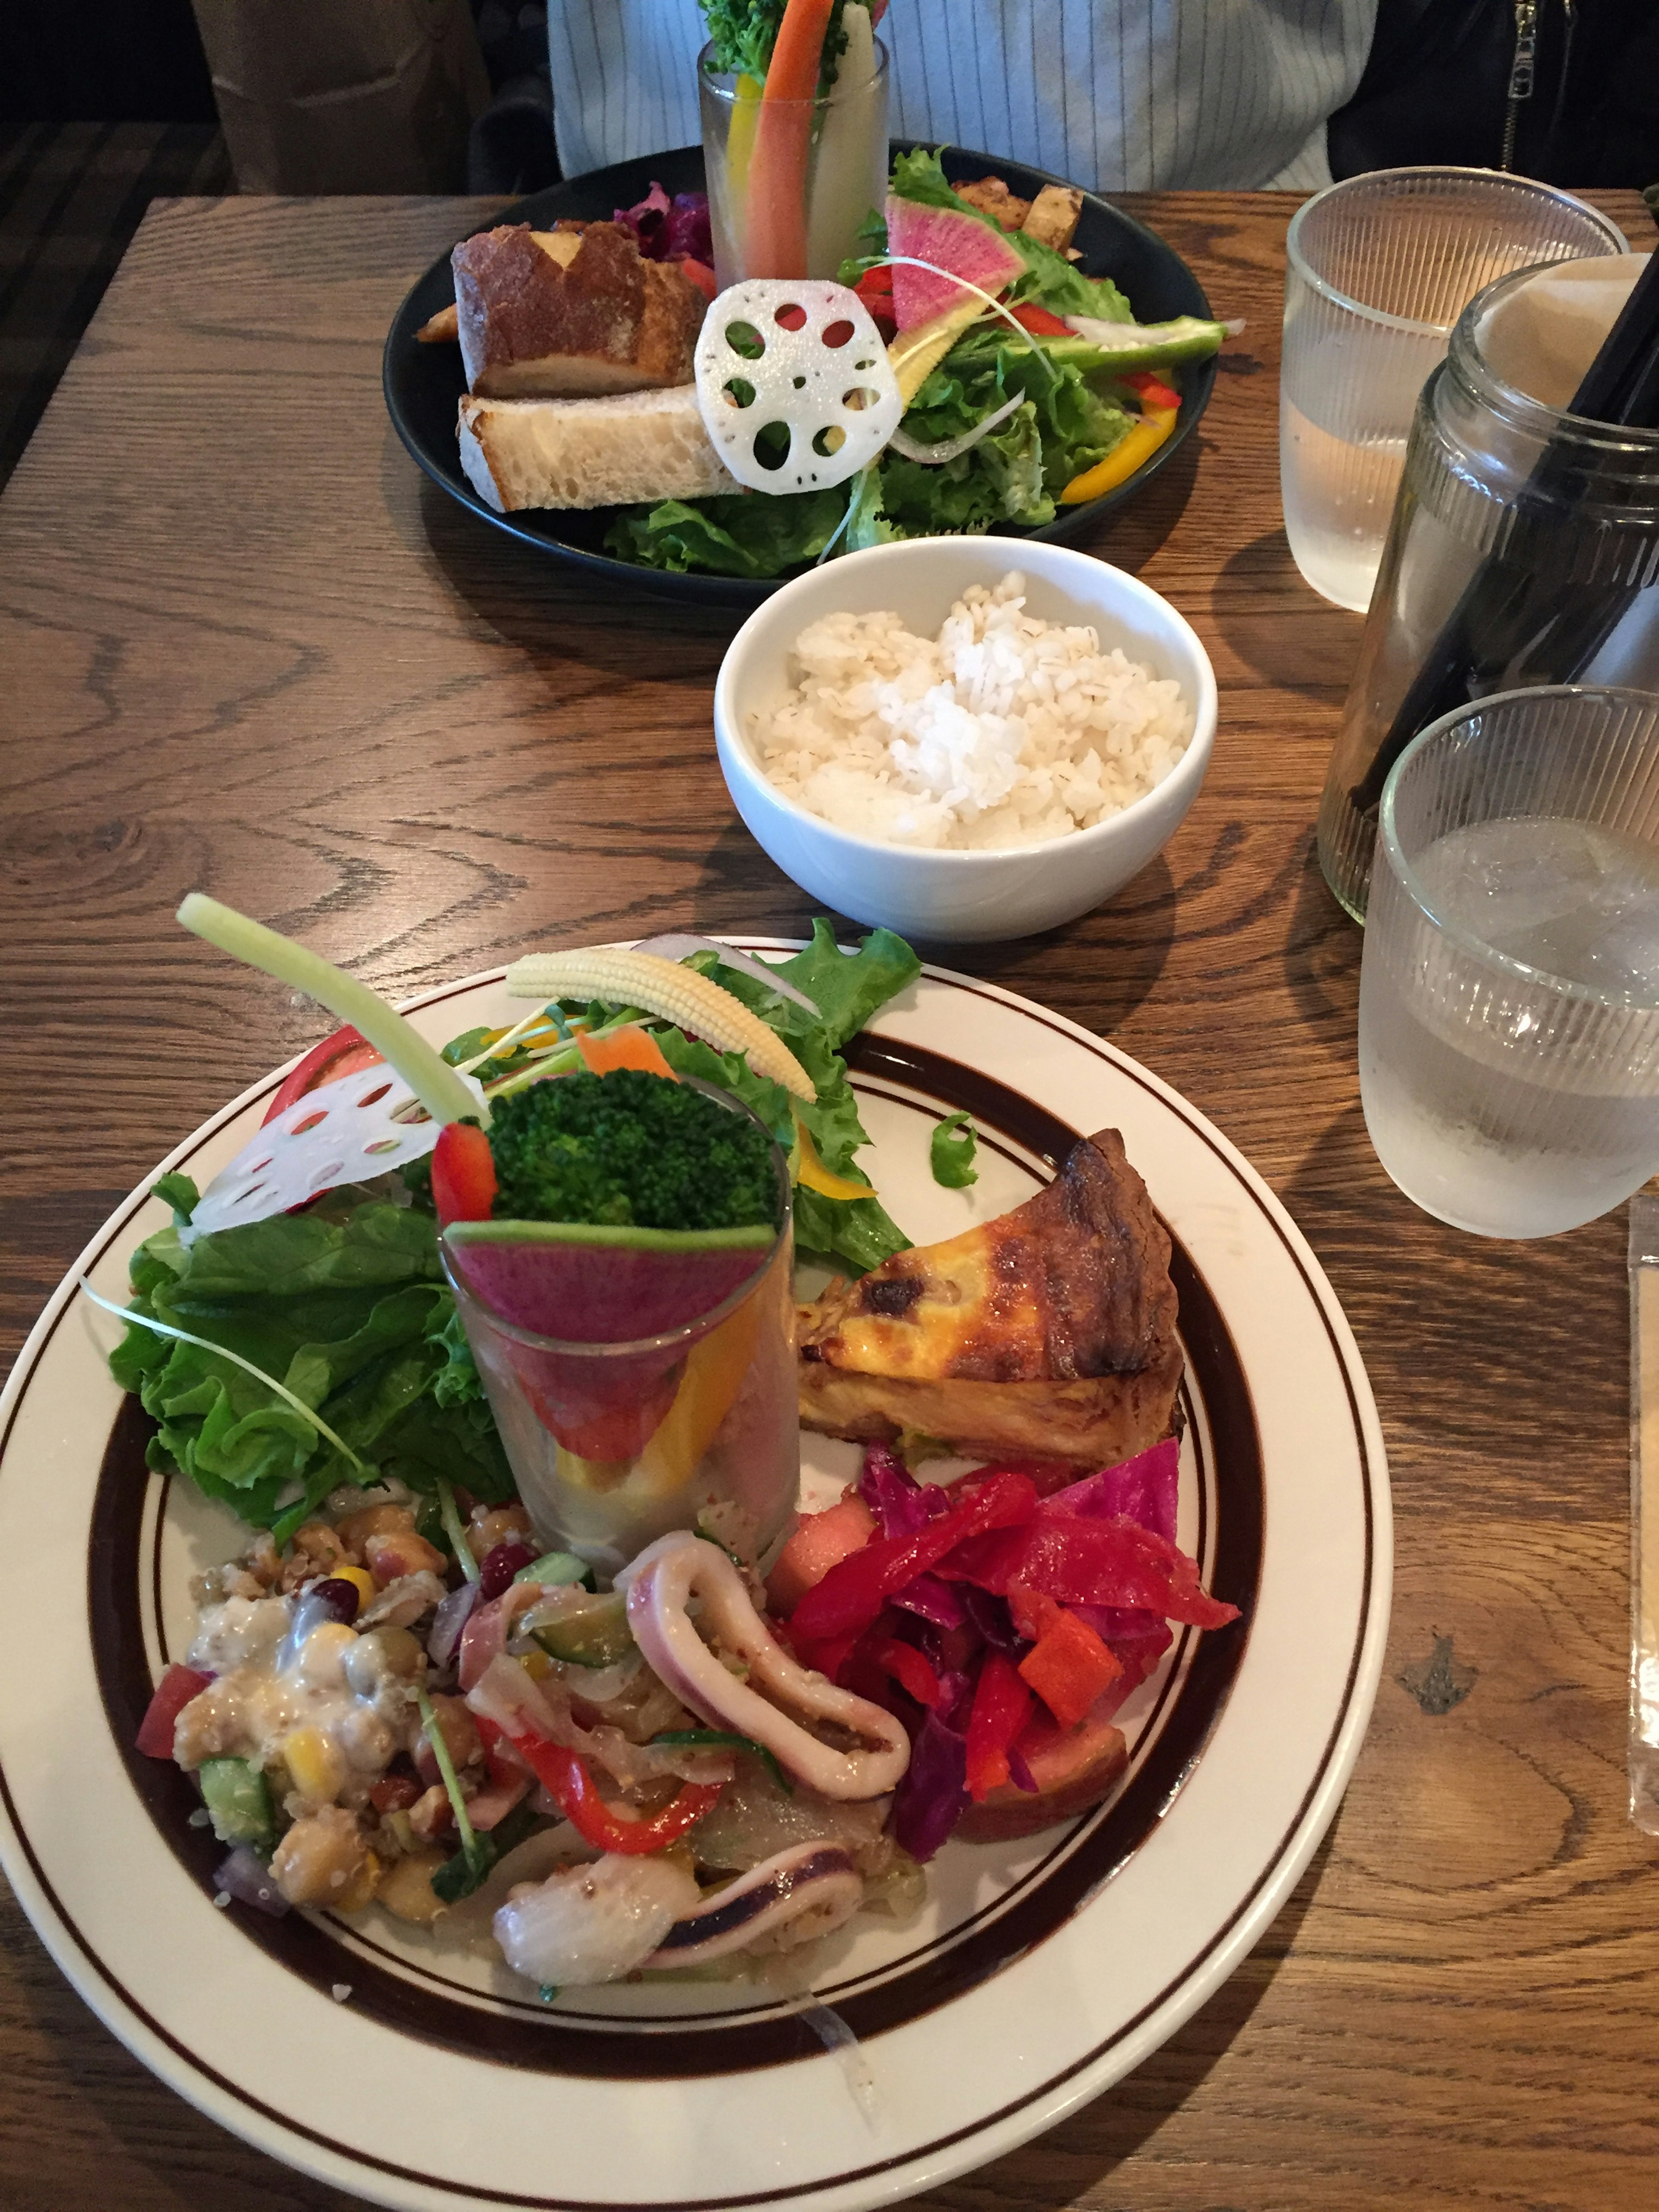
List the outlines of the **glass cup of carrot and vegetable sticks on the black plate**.
{"type": "Polygon", "coordinates": [[[761,117],[761,86],[697,55],[703,113],[703,175],[714,230],[714,279],[834,276],[858,252],[858,226],[887,201],[887,49],[876,75],[830,88],[827,100],[774,100],[761,117]],[[757,168],[792,179],[787,197],[750,206],[757,168]]]}

